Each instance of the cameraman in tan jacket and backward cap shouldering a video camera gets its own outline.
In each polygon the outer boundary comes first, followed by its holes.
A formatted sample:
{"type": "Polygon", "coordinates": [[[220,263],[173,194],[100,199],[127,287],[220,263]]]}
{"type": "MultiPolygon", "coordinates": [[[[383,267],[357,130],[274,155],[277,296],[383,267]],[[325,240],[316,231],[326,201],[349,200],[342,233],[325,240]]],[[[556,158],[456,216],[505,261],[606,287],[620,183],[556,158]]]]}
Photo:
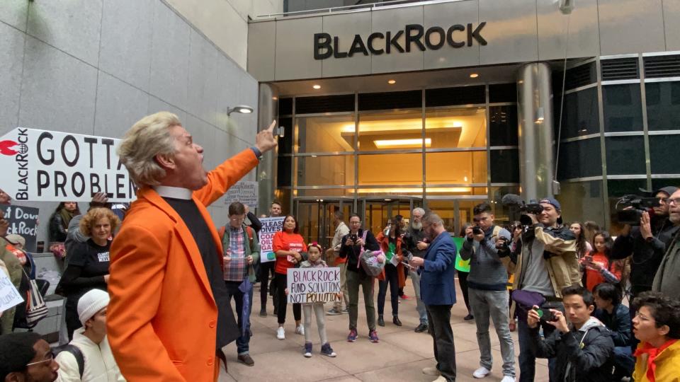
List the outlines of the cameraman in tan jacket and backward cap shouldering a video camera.
{"type": "MultiPolygon", "coordinates": [[[[514,273],[513,299],[519,296],[543,303],[543,308],[562,309],[562,289],[580,285],[579,262],[576,256],[576,238],[569,227],[558,223],[561,217],[560,202],[553,197],[541,199],[542,211],[527,214],[531,226],[522,234],[521,246],[516,252],[497,241],[499,257],[509,272],[514,273]],[[521,293],[519,293],[521,292],[521,293]]],[[[520,381],[533,381],[536,373],[536,354],[531,347],[531,332],[526,323],[527,311],[533,303],[518,301],[519,316],[519,369],[520,381]]],[[[553,325],[543,324],[545,337],[555,330],[553,325]]],[[[555,379],[555,359],[548,361],[550,380],[555,379]]]]}

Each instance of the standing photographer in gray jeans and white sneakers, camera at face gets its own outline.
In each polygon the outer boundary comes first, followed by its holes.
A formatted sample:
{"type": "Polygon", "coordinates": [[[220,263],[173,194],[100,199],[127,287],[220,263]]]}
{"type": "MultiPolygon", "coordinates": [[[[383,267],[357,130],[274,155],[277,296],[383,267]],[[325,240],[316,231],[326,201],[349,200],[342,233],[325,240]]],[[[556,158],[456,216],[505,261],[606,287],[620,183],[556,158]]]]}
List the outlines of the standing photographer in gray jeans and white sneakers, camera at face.
{"type": "Polygon", "coordinates": [[[465,228],[465,242],[460,257],[470,261],[467,277],[470,307],[477,324],[477,343],[480,346],[480,368],[472,373],[484,378],[492,370],[489,318],[494,320],[503,357],[502,382],[515,380],[515,354],[510,337],[507,289],[508,273],[498,257],[496,243],[508,243],[510,232],[494,225],[494,215],[488,203],[477,204],[472,210],[475,226],[465,228]]]}

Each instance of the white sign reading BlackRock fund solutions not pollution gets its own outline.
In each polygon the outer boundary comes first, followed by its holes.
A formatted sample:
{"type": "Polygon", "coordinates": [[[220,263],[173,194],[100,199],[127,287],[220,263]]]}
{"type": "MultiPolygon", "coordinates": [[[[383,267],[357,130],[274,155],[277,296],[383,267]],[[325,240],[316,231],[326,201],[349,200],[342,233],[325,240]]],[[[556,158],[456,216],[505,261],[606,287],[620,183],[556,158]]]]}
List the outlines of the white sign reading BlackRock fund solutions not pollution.
{"type": "Polygon", "coordinates": [[[288,268],[289,303],[340,301],[340,268],[288,268]]]}

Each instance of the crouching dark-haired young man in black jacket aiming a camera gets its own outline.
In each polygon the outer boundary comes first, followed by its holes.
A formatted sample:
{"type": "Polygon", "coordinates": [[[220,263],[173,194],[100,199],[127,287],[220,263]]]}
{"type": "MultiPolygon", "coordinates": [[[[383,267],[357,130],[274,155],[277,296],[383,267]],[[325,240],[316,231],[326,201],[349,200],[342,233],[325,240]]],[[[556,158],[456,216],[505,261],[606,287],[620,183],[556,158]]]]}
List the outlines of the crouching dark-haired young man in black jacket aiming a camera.
{"type": "Polygon", "coordinates": [[[614,343],[606,326],[590,316],[595,309],[593,294],[583,287],[566,287],[562,289],[562,303],[565,313],[538,305],[527,313],[536,357],[556,359],[555,381],[611,381],[614,343]],[[539,323],[555,330],[543,339],[539,323]]]}

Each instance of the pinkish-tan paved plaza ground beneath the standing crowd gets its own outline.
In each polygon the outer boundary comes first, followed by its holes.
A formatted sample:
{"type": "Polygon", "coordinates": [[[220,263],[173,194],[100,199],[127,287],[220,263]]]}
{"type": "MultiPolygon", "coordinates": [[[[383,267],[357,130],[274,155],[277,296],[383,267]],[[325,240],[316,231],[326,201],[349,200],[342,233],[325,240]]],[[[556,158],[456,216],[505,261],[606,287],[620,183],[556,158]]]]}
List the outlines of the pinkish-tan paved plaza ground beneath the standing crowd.
{"type": "MultiPolygon", "coordinates": [[[[377,297],[377,284],[375,294],[377,297]]],[[[479,349],[475,334],[474,321],[465,321],[467,314],[463,296],[456,284],[458,301],[453,306],[451,325],[455,336],[455,358],[458,365],[458,378],[456,381],[500,381],[502,375],[502,363],[498,338],[490,328],[494,368],[492,374],[484,379],[472,378],[472,371],[479,367],[479,349]]],[[[406,294],[413,296],[411,279],[407,279],[406,294]]],[[[402,320],[401,328],[392,324],[392,311],[389,296],[385,303],[385,327],[378,327],[380,343],[374,344],[368,341],[368,329],[366,328],[363,299],[359,301],[358,332],[356,342],[347,342],[348,317],[326,316],[326,329],[331,342],[331,347],[338,353],[336,358],[329,358],[319,353],[319,334],[315,320],[312,320],[312,338],[314,339],[314,351],[312,358],[302,356],[305,337],[295,334],[295,321],[293,309],[288,305],[288,313],[285,323],[285,340],[276,339],[276,316],[273,316],[271,299],[268,300],[268,317],[258,316],[260,308],[259,284],[253,301],[253,316],[251,318],[253,337],[250,341],[250,354],[255,361],[255,366],[249,367],[237,362],[236,345],[229,344],[225,347],[229,374],[222,369],[220,381],[416,381],[429,382],[435,378],[421,373],[426,366],[434,366],[434,354],[432,340],[427,333],[416,333],[414,328],[418,325],[416,313],[416,301],[401,300],[399,304],[399,318],[402,320]]],[[[389,295],[389,292],[388,292],[389,295]]],[[[377,306],[377,302],[376,302],[377,306]]],[[[327,304],[327,309],[331,308],[327,304]]],[[[519,355],[516,332],[512,333],[515,340],[515,356],[519,355]]],[[[536,381],[548,381],[548,364],[546,359],[538,359],[536,365],[536,381]]],[[[519,376],[519,365],[515,363],[519,376]]]]}

